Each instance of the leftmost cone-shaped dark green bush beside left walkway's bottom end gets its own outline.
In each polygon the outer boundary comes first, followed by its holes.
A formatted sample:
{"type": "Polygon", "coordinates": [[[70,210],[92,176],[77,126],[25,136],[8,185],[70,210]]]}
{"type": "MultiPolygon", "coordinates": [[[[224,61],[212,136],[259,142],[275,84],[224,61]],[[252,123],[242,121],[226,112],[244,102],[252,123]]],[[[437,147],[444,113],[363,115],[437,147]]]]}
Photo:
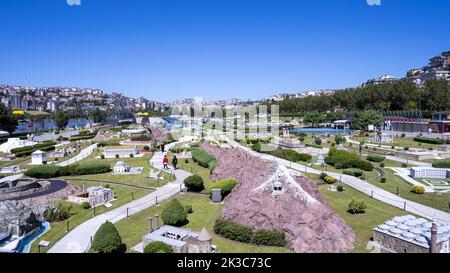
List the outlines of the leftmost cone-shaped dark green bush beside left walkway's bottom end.
{"type": "Polygon", "coordinates": [[[97,230],[92,241],[92,249],[99,253],[124,252],[124,244],[116,227],[106,221],[97,230]]]}

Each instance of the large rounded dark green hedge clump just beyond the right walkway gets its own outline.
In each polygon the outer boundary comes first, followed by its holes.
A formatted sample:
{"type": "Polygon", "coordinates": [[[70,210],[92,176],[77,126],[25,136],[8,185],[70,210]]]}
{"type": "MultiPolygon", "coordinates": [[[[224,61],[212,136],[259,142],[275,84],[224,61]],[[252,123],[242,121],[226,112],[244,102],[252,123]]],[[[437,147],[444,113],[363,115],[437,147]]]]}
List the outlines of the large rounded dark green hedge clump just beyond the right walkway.
{"type": "Polygon", "coordinates": [[[325,162],[334,166],[336,169],[349,169],[356,168],[363,171],[372,171],[373,165],[361,159],[354,152],[341,151],[337,149],[331,149],[328,156],[325,157],[325,162]]]}

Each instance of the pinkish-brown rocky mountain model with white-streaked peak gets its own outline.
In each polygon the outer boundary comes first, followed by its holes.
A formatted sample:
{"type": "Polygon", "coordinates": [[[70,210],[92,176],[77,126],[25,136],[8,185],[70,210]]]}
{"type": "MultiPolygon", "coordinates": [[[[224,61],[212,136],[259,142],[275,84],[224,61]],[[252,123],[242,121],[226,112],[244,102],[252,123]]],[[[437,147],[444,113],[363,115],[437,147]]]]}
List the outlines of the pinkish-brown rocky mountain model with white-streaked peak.
{"type": "Polygon", "coordinates": [[[295,252],[353,249],[353,230],[330,209],[314,181],[243,149],[201,147],[217,159],[214,180],[239,181],[225,198],[224,219],[254,229],[281,230],[295,252]]]}

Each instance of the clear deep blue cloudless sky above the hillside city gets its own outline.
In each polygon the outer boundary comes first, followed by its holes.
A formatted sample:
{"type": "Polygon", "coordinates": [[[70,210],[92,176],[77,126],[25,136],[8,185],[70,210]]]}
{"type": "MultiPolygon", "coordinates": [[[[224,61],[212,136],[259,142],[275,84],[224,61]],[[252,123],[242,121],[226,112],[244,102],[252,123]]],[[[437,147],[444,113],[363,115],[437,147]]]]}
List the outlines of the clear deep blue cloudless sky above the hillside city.
{"type": "Polygon", "coordinates": [[[0,1],[0,83],[159,101],[404,76],[450,50],[447,0],[0,1]]]}

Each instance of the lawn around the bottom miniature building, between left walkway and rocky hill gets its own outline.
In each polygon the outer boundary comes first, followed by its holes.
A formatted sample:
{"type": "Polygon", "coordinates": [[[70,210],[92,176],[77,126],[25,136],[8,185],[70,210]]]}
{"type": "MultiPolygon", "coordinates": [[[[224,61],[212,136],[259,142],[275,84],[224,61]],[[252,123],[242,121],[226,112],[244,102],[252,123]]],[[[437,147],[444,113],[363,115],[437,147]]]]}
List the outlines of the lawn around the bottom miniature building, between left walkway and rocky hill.
{"type": "MultiPolygon", "coordinates": [[[[176,197],[184,206],[190,204],[193,209],[192,214],[188,214],[189,223],[184,228],[189,228],[199,232],[205,227],[213,237],[213,244],[217,245],[218,252],[221,253],[277,253],[290,252],[284,247],[265,247],[252,244],[244,244],[230,241],[214,234],[213,226],[216,219],[220,218],[223,208],[221,204],[211,203],[208,196],[195,194],[178,194],[176,197]]],[[[142,237],[148,233],[148,217],[155,214],[161,215],[164,205],[168,200],[156,207],[151,207],[141,211],[127,219],[123,219],[116,223],[116,227],[122,237],[123,242],[127,245],[127,251],[132,252],[131,248],[142,242],[142,237]]],[[[160,222],[162,225],[162,221],[160,222]]]]}

